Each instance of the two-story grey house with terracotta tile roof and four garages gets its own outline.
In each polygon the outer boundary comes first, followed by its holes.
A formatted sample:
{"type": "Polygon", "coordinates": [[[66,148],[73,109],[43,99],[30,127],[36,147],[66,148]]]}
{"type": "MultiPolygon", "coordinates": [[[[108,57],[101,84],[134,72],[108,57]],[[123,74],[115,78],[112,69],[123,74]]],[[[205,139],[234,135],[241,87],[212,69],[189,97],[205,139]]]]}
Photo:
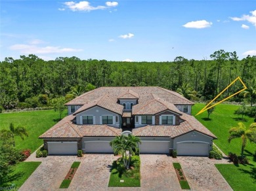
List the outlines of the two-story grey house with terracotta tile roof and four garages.
{"type": "Polygon", "coordinates": [[[111,153],[123,131],[140,137],[140,153],[208,156],[217,139],[191,116],[191,101],[160,87],[102,87],[66,105],[68,116],[39,137],[49,154],[111,153]]]}

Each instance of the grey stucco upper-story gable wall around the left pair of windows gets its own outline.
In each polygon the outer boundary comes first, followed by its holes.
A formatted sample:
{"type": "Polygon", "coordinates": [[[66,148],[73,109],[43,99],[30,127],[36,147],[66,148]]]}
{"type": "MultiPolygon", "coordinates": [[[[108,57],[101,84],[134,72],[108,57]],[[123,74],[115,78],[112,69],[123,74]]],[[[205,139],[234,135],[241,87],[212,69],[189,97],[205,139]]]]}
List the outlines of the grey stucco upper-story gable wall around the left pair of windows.
{"type": "Polygon", "coordinates": [[[108,124],[108,126],[112,126],[115,128],[121,127],[120,125],[121,116],[119,116],[119,114],[103,109],[102,107],[95,106],[95,107],[92,107],[91,109],[87,109],[86,111],[78,113],[76,115],[76,123],[83,124],[82,116],[85,116],[85,115],[94,116],[93,117],[94,124],[102,124],[102,115],[111,115],[113,116],[113,124],[108,124]],[[116,116],[118,119],[117,122],[116,122],[116,116]]]}

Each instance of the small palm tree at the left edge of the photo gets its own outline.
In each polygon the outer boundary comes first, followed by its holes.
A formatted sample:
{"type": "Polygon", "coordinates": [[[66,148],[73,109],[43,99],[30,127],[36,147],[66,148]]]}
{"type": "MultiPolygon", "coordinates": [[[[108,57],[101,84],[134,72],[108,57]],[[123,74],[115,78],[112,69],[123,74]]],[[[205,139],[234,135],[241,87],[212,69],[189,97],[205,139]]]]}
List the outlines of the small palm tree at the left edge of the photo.
{"type": "Polygon", "coordinates": [[[2,130],[3,133],[6,133],[8,137],[12,138],[12,145],[15,147],[14,136],[19,136],[22,140],[24,140],[24,136],[28,137],[28,131],[23,126],[18,126],[14,128],[13,123],[10,124],[9,130],[2,130]]]}

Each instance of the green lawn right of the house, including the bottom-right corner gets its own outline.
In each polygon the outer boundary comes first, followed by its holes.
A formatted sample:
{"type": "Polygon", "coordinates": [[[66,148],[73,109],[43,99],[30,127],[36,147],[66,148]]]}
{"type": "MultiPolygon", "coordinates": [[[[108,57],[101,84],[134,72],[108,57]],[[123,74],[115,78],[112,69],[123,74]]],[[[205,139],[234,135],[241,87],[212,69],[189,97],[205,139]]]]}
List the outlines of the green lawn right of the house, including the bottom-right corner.
{"type": "MultiPolygon", "coordinates": [[[[195,116],[205,105],[197,103],[192,107],[192,114],[195,116]]],[[[238,122],[241,122],[238,116],[234,114],[234,111],[238,109],[238,105],[221,104],[215,107],[215,111],[210,115],[211,120],[205,120],[207,118],[207,111],[196,116],[196,118],[207,127],[212,133],[214,133],[218,139],[214,143],[223,150],[224,154],[228,152],[234,152],[238,155],[241,153],[242,140],[240,138],[233,139],[231,143],[228,143],[228,130],[233,126],[236,126],[238,122]]],[[[245,118],[245,126],[249,127],[254,121],[254,118],[245,118]]],[[[249,165],[234,165],[234,164],[217,164],[223,177],[233,190],[256,190],[256,162],[253,160],[253,154],[256,150],[256,144],[248,141],[245,147],[245,156],[249,158],[249,165]]]]}

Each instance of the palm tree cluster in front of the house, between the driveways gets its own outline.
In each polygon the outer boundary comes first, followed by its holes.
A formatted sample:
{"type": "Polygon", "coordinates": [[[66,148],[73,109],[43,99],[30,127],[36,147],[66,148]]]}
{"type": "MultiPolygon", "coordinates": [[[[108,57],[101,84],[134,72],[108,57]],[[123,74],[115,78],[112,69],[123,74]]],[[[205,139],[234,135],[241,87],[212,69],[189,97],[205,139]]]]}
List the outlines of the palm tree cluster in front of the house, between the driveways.
{"type": "Polygon", "coordinates": [[[114,152],[120,153],[122,155],[123,164],[125,165],[126,169],[129,169],[131,154],[133,150],[138,147],[138,143],[140,143],[140,139],[134,135],[117,136],[110,142],[110,146],[113,148],[114,152]]]}

